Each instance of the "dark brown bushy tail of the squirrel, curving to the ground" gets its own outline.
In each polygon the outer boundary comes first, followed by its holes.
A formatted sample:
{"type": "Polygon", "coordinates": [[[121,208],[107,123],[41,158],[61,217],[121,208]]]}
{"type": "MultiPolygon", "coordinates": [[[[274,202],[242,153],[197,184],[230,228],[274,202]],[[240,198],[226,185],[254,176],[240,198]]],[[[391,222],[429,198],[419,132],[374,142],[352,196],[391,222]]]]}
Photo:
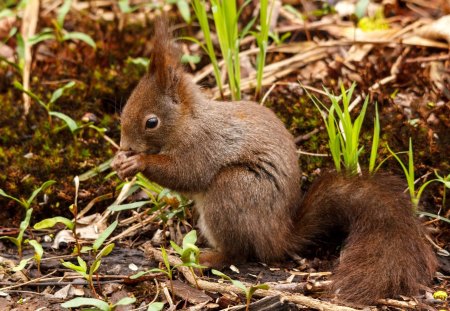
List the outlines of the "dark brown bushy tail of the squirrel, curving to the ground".
{"type": "Polygon", "coordinates": [[[403,189],[391,175],[329,173],[306,194],[299,210],[300,251],[330,234],[347,235],[333,275],[341,299],[369,304],[416,295],[433,278],[435,254],[403,189]]]}

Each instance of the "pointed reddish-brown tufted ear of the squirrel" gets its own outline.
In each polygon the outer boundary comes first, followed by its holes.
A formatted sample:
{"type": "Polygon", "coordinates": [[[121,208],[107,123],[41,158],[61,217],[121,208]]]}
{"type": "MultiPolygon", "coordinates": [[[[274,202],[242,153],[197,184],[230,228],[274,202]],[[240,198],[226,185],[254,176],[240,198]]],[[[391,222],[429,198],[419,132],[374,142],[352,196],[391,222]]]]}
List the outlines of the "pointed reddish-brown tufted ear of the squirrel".
{"type": "Polygon", "coordinates": [[[179,59],[180,51],[172,42],[167,17],[157,18],[148,73],[155,77],[157,85],[162,90],[173,88],[178,84],[183,72],[179,59]]]}

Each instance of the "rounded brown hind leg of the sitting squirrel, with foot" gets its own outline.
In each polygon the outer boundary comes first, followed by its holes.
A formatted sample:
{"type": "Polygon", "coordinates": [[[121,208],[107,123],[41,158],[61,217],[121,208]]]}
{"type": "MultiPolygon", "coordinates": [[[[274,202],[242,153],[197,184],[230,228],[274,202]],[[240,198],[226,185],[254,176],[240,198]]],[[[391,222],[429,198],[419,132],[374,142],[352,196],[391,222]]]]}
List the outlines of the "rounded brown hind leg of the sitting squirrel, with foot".
{"type": "Polygon", "coordinates": [[[200,231],[219,251],[204,255],[205,263],[283,259],[293,226],[281,191],[245,167],[223,169],[196,201],[200,231]]]}

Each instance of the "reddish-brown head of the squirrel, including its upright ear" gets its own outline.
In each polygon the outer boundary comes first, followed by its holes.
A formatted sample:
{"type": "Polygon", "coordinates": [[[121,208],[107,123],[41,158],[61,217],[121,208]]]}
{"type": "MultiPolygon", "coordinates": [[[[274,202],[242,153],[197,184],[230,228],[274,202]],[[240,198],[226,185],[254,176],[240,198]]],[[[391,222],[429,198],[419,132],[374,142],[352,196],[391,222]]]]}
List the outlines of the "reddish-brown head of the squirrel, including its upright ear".
{"type": "Polygon", "coordinates": [[[195,92],[179,62],[178,50],[164,20],[155,24],[148,73],[125,105],[120,148],[123,151],[159,153],[174,137],[191,110],[195,92]]]}

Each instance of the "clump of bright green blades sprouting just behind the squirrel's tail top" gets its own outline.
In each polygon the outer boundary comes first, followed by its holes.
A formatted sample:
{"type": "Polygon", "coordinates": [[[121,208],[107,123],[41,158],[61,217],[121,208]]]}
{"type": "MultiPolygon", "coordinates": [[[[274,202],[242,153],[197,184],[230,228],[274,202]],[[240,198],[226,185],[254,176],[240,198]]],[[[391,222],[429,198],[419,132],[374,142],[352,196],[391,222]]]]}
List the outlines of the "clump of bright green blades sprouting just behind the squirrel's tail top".
{"type": "MultiPolygon", "coordinates": [[[[359,155],[363,150],[363,147],[359,146],[359,136],[369,100],[369,98],[366,97],[361,112],[353,121],[350,116],[349,106],[355,86],[356,84],[353,83],[348,90],[345,90],[344,86],[341,85],[340,96],[331,94],[325,88],[325,93],[331,101],[330,108],[327,108],[317,99],[317,97],[308,93],[309,97],[319,110],[325,109],[327,111],[327,113],[322,113],[322,117],[325,121],[329,139],[328,145],[336,170],[338,172],[341,171],[341,163],[343,163],[346,171],[353,174],[359,172],[359,155]]],[[[378,109],[376,109],[372,149],[369,160],[369,170],[372,173],[375,170],[374,167],[379,145],[379,135],[379,116],[378,109]]]]}

